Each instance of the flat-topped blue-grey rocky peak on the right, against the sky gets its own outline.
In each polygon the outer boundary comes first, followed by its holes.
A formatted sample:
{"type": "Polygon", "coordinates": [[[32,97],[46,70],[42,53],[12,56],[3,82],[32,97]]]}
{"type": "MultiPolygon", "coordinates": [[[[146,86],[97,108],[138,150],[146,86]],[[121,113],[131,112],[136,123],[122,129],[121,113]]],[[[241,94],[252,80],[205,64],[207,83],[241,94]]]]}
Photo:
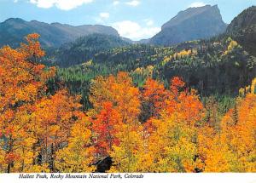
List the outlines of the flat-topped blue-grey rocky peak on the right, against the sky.
{"type": "Polygon", "coordinates": [[[209,38],[223,33],[226,27],[217,5],[189,8],[166,22],[149,43],[174,45],[209,38]]]}

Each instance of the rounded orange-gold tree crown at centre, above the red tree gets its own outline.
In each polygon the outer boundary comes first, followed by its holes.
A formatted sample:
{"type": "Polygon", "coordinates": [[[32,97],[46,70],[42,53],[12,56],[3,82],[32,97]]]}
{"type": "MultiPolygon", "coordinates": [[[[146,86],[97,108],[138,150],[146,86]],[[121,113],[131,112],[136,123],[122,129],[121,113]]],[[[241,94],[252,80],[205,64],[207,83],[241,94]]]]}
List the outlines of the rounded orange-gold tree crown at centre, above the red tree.
{"type": "Polygon", "coordinates": [[[106,101],[113,103],[122,123],[136,122],[140,112],[139,90],[133,86],[128,73],[119,72],[116,77],[96,77],[90,89],[90,101],[99,112],[106,101]]]}

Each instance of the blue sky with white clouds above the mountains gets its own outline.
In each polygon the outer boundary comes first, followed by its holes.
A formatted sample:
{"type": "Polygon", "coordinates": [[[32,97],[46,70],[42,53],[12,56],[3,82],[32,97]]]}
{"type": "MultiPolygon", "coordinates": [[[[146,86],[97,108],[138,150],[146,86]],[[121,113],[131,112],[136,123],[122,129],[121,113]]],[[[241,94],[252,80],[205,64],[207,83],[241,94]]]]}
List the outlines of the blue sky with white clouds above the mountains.
{"type": "Polygon", "coordinates": [[[0,21],[9,18],[60,22],[73,26],[113,26],[122,37],[152,37],[179,11],[215,5],[226,23],[256,0],[0,0],[0,21]]]}

